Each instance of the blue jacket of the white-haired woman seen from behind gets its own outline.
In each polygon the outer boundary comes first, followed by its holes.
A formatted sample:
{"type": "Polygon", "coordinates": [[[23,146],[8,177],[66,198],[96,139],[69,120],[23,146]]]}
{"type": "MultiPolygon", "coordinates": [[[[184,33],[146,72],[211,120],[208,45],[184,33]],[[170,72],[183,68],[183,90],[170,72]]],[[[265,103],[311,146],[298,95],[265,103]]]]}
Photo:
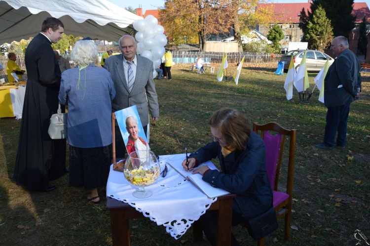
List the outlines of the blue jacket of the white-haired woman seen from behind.
{"type": "Polygon", "coordinates": [[[60,104],[68,104],[68,143],[96,148],[112,143],[111,100],[115,89],[111,74],[91,64],[62,74],[60,104]],[[78,82],[79,79],[79,82],[78,82]]]}

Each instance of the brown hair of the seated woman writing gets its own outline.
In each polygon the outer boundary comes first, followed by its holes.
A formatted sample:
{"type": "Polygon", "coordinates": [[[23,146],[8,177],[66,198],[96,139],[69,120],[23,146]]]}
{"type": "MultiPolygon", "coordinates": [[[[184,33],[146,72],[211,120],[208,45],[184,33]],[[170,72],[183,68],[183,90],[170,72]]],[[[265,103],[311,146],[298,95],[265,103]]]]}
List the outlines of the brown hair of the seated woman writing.
{"type": "Polygon", "coordinates": [[[222,108],[215,112],[208,124],[218,128],[225,142],[238,150],[244,150],[251,136],[252,128],[243,114],[231,108],[222,108]]]}

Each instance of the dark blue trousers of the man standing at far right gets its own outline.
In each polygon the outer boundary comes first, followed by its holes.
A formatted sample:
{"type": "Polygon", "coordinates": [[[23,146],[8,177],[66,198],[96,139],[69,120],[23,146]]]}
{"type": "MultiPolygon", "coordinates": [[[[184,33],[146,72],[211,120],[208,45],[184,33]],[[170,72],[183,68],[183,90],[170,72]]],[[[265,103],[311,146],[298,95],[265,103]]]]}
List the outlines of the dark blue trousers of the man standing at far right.
{"type": "Polygon", "coordinates": [[[338,132],[336,145],[346,146],[347,122],[350,105],[351,104],[348,103],[339,107],[328,107],[324,135],[324,144],[326,146],[334,146],[336,132],[338,132]]]}

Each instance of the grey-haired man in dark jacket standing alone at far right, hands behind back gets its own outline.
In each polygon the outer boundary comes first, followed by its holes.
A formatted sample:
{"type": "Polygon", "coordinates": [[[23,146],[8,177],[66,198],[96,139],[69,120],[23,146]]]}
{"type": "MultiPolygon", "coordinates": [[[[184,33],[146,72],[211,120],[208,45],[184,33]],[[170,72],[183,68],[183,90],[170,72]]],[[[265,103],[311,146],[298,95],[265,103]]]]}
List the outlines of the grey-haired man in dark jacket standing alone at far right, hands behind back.
{"type": "Polygon", "coordinates": [[[331,49],[336,57],[324,81],[324,104],[328,108],[324,142],[316,148],[345,148],[349,106],[360,96],[361,66],[356,55],[349,50],[348,40],[335,37],[331,49]],[[338,136],[334,142],[336,132],[338,136]]]}

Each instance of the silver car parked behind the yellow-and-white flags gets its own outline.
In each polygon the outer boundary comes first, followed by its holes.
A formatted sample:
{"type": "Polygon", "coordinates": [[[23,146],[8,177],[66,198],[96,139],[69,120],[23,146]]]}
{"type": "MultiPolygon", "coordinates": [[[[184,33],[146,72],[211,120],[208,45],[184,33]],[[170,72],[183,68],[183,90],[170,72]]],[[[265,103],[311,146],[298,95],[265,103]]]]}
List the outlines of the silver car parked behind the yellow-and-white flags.
{"type": "MultiPolygon", "coordinates": [[[[288,72],[289,64],[291,63],[291,56],[293,56],[294,68],[298,71],[300,62],[303,59],[304,49],[291,50],[284,54],[280,61],[284,63],[284,72],[288,72]]],[[[319,72],[325,65],[326,61],[329,59],[329,66],[333,64],[334,58],[329,55],[317,51],[317,50],[306,50],[306,66],[308,72],[319,72]]]]}

